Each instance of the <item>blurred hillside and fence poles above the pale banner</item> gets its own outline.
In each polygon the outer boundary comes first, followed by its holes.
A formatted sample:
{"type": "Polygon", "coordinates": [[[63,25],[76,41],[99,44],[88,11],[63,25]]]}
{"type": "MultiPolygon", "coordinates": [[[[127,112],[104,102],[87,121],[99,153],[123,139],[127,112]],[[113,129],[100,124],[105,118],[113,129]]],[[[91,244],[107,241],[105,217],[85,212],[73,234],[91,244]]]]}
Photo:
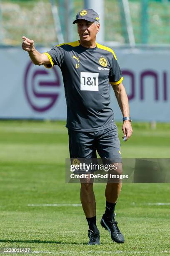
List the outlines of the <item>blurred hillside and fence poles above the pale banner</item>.
{"type": "Polygon", "coordinates": [[[52,46],[62,38],[75,41],[72,20],[85,7],[100,13],[101,41],[119,46],[170,44],[169,0],[1,0],[0,44],[20,46],[22,34],[41,46],[52,46]]]}

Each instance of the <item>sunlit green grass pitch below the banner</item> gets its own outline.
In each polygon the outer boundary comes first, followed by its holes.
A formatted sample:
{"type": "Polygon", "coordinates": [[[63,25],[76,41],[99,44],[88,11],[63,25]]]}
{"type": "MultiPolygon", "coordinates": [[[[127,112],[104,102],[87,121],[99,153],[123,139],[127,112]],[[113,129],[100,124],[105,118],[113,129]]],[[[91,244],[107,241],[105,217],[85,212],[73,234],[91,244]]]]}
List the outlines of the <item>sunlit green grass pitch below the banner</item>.
{"type": "MultiPolygon", "coordinates": [[[[121,138],[121,124],[118,130],[121,138]]],[[[170,157],[170,124],[134,123],[133,130],[122,157],[170,157]]],[[[0,121],[0,247],[31,247],[34,255],[170,254],[170,205],[149,204],[170,203],[169,184],[123,184],[116,220],[124,244],[100,226],[105,184],[95,184],[101,244],[87,246],[80,184],[65,184],[67,144],[65,122],[0,121]]]]}

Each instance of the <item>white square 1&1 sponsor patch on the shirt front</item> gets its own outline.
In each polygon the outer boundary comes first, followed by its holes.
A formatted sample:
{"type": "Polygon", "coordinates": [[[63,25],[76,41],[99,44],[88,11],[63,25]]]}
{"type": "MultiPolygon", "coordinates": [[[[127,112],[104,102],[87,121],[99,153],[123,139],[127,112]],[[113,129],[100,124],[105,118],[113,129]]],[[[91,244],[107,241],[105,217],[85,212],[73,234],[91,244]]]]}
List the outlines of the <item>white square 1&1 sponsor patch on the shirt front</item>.
{"type": "Polygon", "coordinates": [[[98,91],[99,90],[99,73],[81,72],[80,73],[80,90],[81,91],[98,91]]]}

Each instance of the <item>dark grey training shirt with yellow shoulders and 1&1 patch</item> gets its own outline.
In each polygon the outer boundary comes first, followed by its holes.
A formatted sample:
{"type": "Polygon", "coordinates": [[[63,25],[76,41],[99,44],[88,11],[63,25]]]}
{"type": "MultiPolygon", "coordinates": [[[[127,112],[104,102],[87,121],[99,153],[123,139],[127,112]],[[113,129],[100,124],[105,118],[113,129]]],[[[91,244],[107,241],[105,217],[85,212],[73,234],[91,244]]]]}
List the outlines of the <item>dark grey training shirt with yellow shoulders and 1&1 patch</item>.
{"type": "Polygon", "coordinates": [[[114,122],[110,105],[110,84],[123,77],[112,49],[96,43],[85,48],[79,41],[60,44],[45,54],[50,68],[62,71],[67,102],[67,125],[75,131],[101,131],[114,122]]]}

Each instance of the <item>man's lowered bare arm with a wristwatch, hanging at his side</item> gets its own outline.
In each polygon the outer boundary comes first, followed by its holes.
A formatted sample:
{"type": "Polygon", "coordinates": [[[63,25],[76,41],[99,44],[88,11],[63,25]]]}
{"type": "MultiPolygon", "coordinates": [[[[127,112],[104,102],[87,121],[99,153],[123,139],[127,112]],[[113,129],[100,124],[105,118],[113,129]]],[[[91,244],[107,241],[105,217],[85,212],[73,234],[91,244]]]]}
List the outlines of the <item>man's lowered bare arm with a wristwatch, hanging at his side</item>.
{"type": "MultiPolygon", "coordinates": [[[[111,84],[112,85],[112,84],[111,84]]],[[[119,104],[120,110],[122,111],[123,117],[129,117],[129,102],[128,96],[126,94],[125,87],[122,82],[120,84],[112,85],[112,88],[115,92],[117,102],[119,104]]],[[[126,141],[133,133],[132,126],[129,120],[125,120],[122,125],[123,137],[126,136],[126,141]]],[[[122,137],[122,138],[123,138],[122,137]]]]}

